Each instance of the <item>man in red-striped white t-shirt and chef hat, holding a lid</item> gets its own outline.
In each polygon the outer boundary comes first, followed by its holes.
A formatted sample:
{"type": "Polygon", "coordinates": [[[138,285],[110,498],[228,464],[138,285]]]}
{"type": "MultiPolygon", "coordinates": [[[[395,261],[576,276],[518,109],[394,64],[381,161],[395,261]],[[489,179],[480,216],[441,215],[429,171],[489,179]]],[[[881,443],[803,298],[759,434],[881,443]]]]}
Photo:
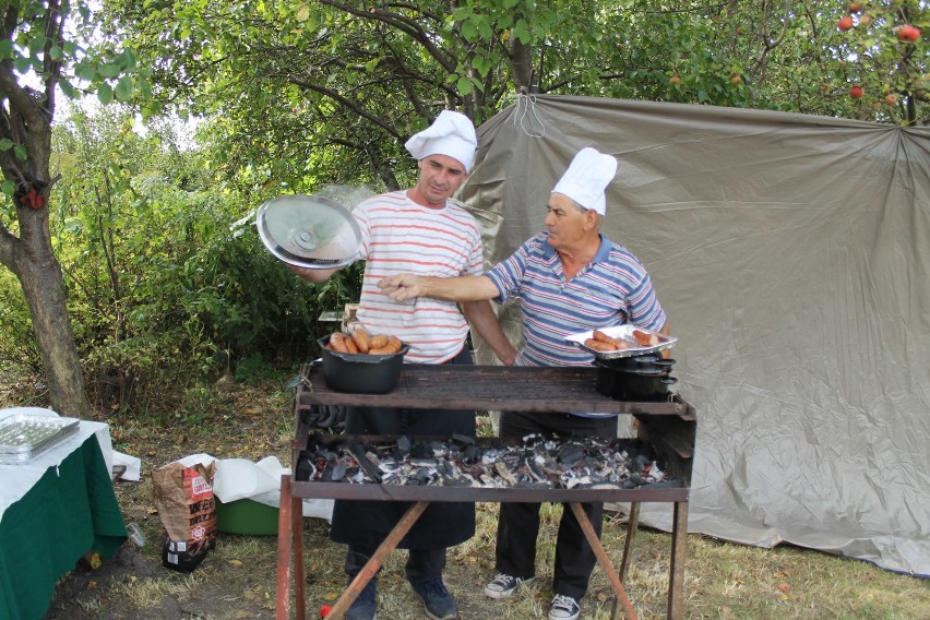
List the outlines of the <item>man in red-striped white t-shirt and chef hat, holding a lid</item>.
{"type": "MultiPolygon", "coordinates": [[[[466,347],[469,325],[505,365],[516,350],[508,342],[488,300],[460,305],[424,298],[396,301],[378,288],[392,274],[480,275],[481,229],[475,218],[450,200],[465,182],[478,141],[464,115],[443,110],[405,146],[417,159],[419,176],[407,190],[379,194],[353,210],[361,231],[359,258],[366,267],[356,318],[369,335],[395,335],[410,346],[405,362],[470,365],[466,347]]],[[[312,283],[335,270],[290,267],[312,283]]],[[[475,436],[474,410],[346,407],[346,433],[354,436],[475,436]]],[[[330,537],[348,545],[345,571],[354,580],[410,506],[408,502],[336,500],[330,537]]],[[[405,576],[434,620],[456,618],[458,608],[443,583],[446,548],[475,535],[474,504],[430,502],[397,545],[408,549],[405,576]]],[[[377,577],[346,610],[347,620],[371,620],[377,613],[377,577]]]]}

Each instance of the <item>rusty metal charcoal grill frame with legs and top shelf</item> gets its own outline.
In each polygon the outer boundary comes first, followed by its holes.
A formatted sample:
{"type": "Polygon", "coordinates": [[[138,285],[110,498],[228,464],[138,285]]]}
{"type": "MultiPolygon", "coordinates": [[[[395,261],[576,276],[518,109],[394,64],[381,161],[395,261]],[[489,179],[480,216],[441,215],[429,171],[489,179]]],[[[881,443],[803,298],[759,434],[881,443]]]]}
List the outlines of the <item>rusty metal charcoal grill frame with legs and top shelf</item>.
{"type": "MultiPolygon", "coordinates": [[[[326,386],[318,363],[301,368],[301,382],[295,395],[296,434],[293,457],[296,465],[313,433],[311,409],[315,406],[381,406],[438,409],[524,410],[540,413],[599,412],[632,415],[639,420],[637,438],[649,446],[676,481],[668,486],[641,488],[462,488],[432,486],[390,486],[299,481],[282,477],[278,525],[276,618],[290,618],[290,582],[294,582],[298,619],[306,618],[303,598],[302,498],[383,500],[415,502],[394,530],[378,548],[359,575],[333,606],[332,618],[341,618],[391,551],[414,525],[431,501],[444,502],[565,502],[575,513],[588,542],[629,618],[635,611],[627,598],[625,579],[629,551],[637,526],[640,502],[673,503],[670,550],[668,615],[682,615],[684,551],[688,499],[694,458],[696,415],[679,396],[659,402],[637,402],[611,397],[597,390],[597,368],[526,368],[500,366],[404,365],[397,386],[388,394],[335,392],[326,386]],[[582,502],[630,502],[627,541],[619,574],[584,512],[582,502]]],[[[361,439],[361,438],[359,438],[361,439]]],[[[615,603],[613,617],[618,616],[615,603]]]]}

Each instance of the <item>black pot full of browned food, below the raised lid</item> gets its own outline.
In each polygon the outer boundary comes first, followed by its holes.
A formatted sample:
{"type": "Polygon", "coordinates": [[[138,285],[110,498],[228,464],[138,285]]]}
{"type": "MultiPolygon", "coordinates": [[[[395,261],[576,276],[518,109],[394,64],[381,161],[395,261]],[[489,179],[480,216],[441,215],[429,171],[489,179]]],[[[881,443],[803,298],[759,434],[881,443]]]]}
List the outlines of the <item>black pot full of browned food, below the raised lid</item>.
{"type": "Polygon", "coordinates": [[[326,348],[330,336],[317,341],[323,359],[323,379],[332,390],[358,394],[385,394],[397,386],[404,356],[410,350],[404,345],[390,355],[339,353],[326,348]]]}

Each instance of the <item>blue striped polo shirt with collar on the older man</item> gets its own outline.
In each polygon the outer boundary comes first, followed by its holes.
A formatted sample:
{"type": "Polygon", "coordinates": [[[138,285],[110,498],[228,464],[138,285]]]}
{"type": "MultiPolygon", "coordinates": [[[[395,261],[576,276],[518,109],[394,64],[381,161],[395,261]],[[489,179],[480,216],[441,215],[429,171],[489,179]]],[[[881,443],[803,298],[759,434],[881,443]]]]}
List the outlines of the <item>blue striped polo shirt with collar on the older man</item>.
{"type": "Polygon", "coordinates": [[[627,248],[600,239],[594,260],[569,282],[548,231],[485,274],[500,291],[498,303],[520,296],[524,345],[516,366],[591,366],[594,356],[565,336],[628,322],[653,331],[665,326],[645,267],[627,248]]]}

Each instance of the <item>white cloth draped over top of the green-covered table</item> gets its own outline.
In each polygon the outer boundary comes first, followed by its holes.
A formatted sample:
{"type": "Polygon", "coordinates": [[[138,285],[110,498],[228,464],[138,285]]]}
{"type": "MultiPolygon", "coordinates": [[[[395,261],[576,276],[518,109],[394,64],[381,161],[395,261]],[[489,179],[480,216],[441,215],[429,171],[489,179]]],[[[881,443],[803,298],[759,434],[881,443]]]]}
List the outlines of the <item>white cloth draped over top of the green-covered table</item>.
{"type": "MultiPolygon", "coordinates": [[[[0,409],[0,419],[12,415],[57,416],[51,409],[40,407],[14,407],[0,409]]],[[[58,467],[64,458],[78,450],[92,434],[97,436],[104,461],[107,464],[107,477],[112,472],[114,451],[110,440],[110,427],[103,422],[81,420],[78,430],[67,440],[41,452],[20,465],[0,465],[0,521],[8,508],[25,496],[45,475],[49,467],[58,467]]]]}

